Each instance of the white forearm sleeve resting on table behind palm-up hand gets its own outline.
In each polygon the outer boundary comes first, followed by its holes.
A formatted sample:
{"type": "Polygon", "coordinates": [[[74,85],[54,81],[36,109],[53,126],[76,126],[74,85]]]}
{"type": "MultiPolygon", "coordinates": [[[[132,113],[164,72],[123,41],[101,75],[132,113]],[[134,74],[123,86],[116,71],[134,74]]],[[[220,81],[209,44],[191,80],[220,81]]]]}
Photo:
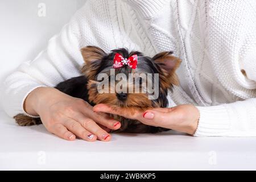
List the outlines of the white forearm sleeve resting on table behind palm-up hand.
{"type": "Polygon", "coordinates": [[[197,109],[195,137],[256,137],[256,98],[197,109]]]}

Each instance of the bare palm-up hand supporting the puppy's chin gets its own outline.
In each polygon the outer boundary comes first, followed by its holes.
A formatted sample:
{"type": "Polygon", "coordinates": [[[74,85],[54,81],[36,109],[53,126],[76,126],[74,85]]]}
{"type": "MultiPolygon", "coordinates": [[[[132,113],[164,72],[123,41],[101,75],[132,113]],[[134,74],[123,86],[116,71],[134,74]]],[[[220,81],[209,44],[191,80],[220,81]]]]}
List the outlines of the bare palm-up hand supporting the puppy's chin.
{"type": "Polygon", "coordinates": [[[122,115],[125,118],[137,119],[145,125],[164,127],[187,134],[194,134],[199,122],[199,110],[193,105],[179,105],[171,108],[154,108],[145,112],[127,113],[120,107],[99,104],[93,107],[96,112],[122,115]]]}

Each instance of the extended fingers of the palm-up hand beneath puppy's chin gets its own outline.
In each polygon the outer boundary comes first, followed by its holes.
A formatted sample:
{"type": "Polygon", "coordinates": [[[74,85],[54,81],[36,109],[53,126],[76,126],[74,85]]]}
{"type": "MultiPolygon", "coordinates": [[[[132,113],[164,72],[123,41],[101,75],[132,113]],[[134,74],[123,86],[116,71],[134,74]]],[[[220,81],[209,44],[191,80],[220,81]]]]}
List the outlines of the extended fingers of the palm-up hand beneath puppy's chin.
{"type": "Polygon", "coordinates": [[[93,110],[96,112],[109,113],[109,114],[117,114],[121,115],[125,118],[134,119],[135,114],[131,115],[129,112],[126,112],[125,109],[121,107],[113,107],[106,104],[98,104],[93,107],[93,110]]]}

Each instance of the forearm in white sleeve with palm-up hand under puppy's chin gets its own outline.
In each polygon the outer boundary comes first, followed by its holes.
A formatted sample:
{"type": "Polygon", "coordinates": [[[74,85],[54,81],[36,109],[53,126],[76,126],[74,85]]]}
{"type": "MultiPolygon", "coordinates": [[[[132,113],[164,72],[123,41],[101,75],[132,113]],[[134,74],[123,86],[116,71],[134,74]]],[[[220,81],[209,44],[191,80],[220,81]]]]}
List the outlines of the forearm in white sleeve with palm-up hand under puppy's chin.
{"type": "Polygon", "coordinates": [[[179,105],[172,108],[155,108],[135,114],[103,104],[96,105],[93,109],[195,137],[256,137],[256,98],[209,107],[179,105]]]}

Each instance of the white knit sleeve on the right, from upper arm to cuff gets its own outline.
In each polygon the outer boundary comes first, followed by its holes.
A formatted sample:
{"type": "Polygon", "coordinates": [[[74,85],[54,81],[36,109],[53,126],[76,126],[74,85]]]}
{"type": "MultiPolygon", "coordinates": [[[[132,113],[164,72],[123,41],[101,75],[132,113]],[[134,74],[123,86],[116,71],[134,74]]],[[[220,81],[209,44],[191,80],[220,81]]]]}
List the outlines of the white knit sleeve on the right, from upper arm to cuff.
{"type": "Polygon", "coordinates": [[[211,13],[215,13],[208,17],[209,59],[220,84],[228,92],[235,90],[233,99],[237,95],[243,101],[197,107],[197,137],[256,137],[255,5],[255,1],[218,1],[209,5],[211,13]],[[236,11],[232,11],[233,7],[237,7],[236,11]]]}

